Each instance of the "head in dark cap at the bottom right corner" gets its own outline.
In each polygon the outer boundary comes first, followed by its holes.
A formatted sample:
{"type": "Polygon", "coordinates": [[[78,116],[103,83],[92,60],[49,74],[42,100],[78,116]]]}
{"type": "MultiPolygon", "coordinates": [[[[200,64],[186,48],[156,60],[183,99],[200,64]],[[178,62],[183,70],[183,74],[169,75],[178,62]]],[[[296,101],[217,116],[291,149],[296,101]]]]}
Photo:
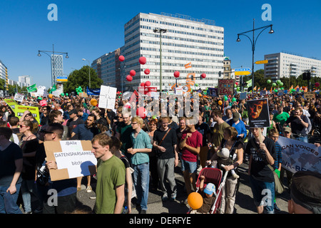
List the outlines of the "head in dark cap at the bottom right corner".
{"type": "Polygon", "coordinates": [[[295,172],[287,202],[290,214],[321,214],[321,174],[311,171],[295,172]]]}

